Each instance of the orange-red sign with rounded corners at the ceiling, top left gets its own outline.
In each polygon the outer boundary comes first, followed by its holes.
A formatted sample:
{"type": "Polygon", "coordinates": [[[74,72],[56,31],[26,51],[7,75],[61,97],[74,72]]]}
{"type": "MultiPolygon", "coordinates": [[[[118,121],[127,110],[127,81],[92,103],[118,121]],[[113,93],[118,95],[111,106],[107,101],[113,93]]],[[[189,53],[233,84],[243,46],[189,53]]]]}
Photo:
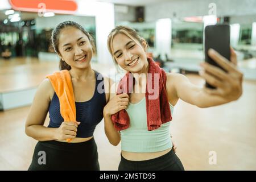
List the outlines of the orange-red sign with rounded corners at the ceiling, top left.
{"type": "Polygon", "coordinates": [[[75,0],[9,0],[11,7],[17,11],[32,11],[73,14],[77,10],[75,0]]]}

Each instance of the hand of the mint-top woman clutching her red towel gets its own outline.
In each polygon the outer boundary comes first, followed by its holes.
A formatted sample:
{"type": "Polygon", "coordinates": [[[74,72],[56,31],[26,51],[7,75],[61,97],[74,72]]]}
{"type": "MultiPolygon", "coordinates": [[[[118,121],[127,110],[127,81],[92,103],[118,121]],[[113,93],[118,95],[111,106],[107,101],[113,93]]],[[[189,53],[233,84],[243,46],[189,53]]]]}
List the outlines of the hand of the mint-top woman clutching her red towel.
{"type": "Polygon", "coordinates": [[[126,109],[129,104],[129,95],[126,93],[122,93],[114,96],[108,104],[104,107],[103,113],[104,115],[112,115],[120,110],[126,109]]]}

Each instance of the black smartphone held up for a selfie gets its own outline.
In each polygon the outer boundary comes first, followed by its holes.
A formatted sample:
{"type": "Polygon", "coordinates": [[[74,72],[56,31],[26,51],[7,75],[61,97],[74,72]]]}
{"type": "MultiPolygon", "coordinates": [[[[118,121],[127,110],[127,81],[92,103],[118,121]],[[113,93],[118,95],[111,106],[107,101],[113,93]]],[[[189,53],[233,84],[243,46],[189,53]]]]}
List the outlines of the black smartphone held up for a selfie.
{"type": "MultiPolygon", "coordinates": [[[[206,26],[204,29],[204,53],[205,61],[216,67],[220,67],[210,56],[208,56],[208,50],[213,48],[220,53],[223,57],[230,60],[230,26],[229,24],[216,24],[206,26]]],[[[223,69],[223,68],[221,68],[223,69]]],[[[207,88],[215,89],[214,86],[205,82],[207,88]]]]}

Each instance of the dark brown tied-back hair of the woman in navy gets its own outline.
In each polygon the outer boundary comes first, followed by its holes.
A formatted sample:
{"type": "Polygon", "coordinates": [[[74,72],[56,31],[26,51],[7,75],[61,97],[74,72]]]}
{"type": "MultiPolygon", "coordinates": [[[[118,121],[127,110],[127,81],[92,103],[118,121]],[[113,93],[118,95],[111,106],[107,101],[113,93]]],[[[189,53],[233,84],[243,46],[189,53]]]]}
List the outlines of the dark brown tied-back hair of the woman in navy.
{"type": "MultiPolygon", "coordinates": [[[[78,30],[81,30],[88,37],[90,44],[92,46],[92,49],[93,49],[93,53],[96,53],[96,47],[95,47],[94,40],[93,40],[92,36],[80,24],[78,24],[76,22],[72,22],[72,21],[62,22],[62,23],[58,24],[57,27],[54,28],[54,30],[52,31],[52,36],[51,36],[52,47],[56,53],[58,53],[60,55],[60,51],[59,51],[60,31],[67,27],[74,27],[74,28],[77,28],[78,30]]],[[[60,59],[59,68],[60,68],[60,70],[63,70],[63,69],[70,70],[71,66],[68,65],[65,62],[65,60],[60,59]]]]}

